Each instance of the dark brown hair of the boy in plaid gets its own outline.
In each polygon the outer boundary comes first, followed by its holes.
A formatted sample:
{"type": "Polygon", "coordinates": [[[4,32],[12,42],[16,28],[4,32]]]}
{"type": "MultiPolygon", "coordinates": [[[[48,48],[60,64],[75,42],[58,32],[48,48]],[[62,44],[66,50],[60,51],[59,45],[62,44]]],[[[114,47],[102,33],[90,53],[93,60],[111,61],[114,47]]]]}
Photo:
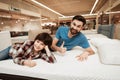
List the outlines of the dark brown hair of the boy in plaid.
{"type": "Polygon", "coordinates": [[[45,33],[45,32],[39,33],[39,34],[35,37],[34,41],[35,41],[35,40],[40,40],[40,41],[42,41],[45,45],[48,45],[49,48],[51,47],[52,41],[53,41],[52,37],[51,37],[48,33],[45,33]]]}

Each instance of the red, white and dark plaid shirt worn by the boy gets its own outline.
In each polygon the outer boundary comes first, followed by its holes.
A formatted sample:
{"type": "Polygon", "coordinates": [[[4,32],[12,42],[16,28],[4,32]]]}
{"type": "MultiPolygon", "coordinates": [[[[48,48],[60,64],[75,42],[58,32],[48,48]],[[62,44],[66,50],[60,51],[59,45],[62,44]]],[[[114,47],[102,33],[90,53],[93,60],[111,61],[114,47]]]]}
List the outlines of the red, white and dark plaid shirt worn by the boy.
{"type": "Polygon", "coordinates": [[[38,59],[41,58],[49,63],[56,62],[56,59],[54,55],[51,53],[50,56],[48,56],[46,53],[42,53],[39,51],[36,55],[33,53],[33,41],[25,41],[24,43],[16,43],[12,46],[10,49],[9,55],[12,56],[14,63],[23,65],[24,60],[29,59],[30,57],[32,59],[38,59]]]}

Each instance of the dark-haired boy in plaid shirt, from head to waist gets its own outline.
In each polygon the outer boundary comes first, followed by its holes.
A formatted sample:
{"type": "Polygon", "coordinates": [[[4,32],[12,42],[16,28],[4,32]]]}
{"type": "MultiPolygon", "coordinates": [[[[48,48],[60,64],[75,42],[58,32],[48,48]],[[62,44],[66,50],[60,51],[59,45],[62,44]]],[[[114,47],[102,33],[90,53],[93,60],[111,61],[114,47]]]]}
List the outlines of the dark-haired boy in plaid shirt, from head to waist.
{"type": "Polygon", "coordinates": [[[29,67],[36,66],[36,62],[32,61],[32,59],[38,58],[49,63],[54,63],[56,59],[49,50],[52,40],[52,37],[48,33],[40,33],[34,41],[27,40],[24,43],[8,47],[5,50],[5,54],[9,54],[13,58],[14,63],[29,67]]]}

